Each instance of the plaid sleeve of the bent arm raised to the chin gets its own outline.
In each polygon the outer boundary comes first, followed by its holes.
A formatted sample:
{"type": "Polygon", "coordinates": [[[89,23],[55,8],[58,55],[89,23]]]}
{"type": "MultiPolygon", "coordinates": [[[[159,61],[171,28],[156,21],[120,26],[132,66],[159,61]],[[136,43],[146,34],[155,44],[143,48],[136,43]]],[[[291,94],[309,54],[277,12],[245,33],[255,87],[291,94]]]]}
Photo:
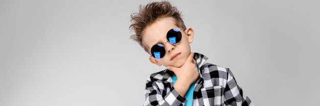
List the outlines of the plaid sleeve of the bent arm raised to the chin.
{"type": "Polygon", "coordinates": [[[169,89],[170,91],[165,92],[163,83],[150,81],[148,78],[145,89],[146,101],[143,105],[184,105],[187,102],[173,87],[169,89]]]}

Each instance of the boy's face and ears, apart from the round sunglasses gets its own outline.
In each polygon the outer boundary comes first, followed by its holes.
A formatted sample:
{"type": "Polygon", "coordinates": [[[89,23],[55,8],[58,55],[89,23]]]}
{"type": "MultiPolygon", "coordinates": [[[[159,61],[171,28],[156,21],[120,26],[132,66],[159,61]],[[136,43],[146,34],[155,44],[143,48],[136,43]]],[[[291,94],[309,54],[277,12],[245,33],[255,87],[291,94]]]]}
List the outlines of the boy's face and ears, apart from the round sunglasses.
{"type": "MultiPolygon", "coordinates": [[[[157,19],[154,23],[147,26],[143,34],[142,43],[144,43],[148,51],[153,45],[160,43],[164,44],[167,41],[167,32],[171,29],[181,29],[175,25],[174,19],[170,17],[157,19]]],[[[168,65],[174,67],[181,67],[186,62],[187,58],[191,54],[190,44],[193,41],[193,30],[192,28],[188,28],[186,30],[180,31],[182,34],[182,38],[177,44],[165,43],[164,46],[166,48],[166,54],[161,59],[154,59],[153,57],[149,57],[151,63],[156,64],[158,66],[164,65],[167,67],[168,65]],[[176,54],[177,57],[172,59],[172,57],[176,54]]],[[[150,53],[149,53],[150,54],[150,53]]]]}

